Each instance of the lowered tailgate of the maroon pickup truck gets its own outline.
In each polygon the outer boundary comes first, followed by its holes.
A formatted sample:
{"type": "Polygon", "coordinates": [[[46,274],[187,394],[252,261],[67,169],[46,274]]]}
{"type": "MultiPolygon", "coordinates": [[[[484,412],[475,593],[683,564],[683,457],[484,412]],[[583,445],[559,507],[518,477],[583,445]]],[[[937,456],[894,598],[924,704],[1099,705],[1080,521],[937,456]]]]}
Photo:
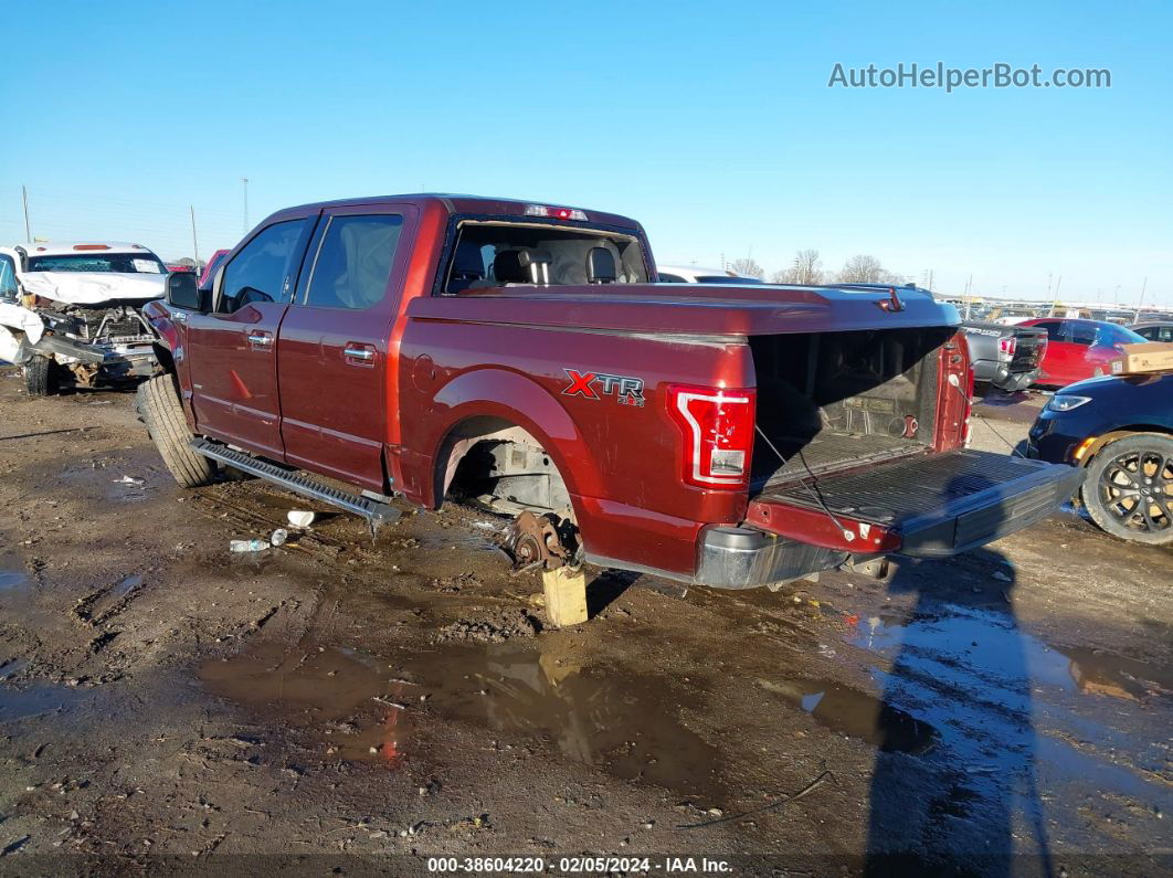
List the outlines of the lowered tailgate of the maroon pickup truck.
{"type": "Polygon", "coordinates": [[[944,557],[1038,522],[1083,470],[969,449],[766,485],[747,522],[856,554],[944,557]],[[829,512],[829,515],[828,515],[829,512]]]}

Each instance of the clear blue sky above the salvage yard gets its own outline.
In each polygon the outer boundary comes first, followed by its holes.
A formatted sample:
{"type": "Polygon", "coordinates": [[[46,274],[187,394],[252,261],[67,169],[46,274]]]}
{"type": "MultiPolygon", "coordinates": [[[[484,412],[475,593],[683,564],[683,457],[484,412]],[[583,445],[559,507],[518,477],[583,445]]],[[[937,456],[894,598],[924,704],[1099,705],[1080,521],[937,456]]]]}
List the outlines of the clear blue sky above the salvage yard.
{"type": "Polygon", "coordinates": [[[206,256],[290,204],[533,198],[658,261],[870,253],[935,288],[1173,305],[1167,4],[111,2],[12,16],[0,240],[206,256]],[[432,7],[432,8],[429,8],[432,7]],[[1108,68],[1110,89],[828,88],[846,67],[1108,68]],[[1062,277],[1062,280],[1059,278],[1062,277]]]}

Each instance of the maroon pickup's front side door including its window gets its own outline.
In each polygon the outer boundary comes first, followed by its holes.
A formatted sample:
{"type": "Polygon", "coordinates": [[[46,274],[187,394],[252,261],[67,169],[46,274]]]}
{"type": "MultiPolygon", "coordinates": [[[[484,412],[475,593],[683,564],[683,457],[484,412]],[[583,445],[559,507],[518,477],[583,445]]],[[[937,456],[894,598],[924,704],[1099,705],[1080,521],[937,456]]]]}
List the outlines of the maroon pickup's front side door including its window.
{"type": "Polygon", "coordinates": [[[185,359],[199,433],[282,460],[277,332],[312,218],[260,229],[223,268],[212,313],[188,315],[185,359]]]}

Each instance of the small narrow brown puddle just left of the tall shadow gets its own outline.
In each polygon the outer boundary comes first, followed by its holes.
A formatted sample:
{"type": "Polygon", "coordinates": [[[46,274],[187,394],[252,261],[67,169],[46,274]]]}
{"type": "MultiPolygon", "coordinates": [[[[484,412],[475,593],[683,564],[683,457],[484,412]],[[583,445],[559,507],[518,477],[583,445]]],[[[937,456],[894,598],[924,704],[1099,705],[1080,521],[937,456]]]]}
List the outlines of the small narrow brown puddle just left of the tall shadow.
{"type": "Polygon", "coordinates": [[[910,713],[874,695],[829,680],[759,680],[834,731],[859,737],[886,753],[921,754],[937,740],[937,730],[910,713]]]}

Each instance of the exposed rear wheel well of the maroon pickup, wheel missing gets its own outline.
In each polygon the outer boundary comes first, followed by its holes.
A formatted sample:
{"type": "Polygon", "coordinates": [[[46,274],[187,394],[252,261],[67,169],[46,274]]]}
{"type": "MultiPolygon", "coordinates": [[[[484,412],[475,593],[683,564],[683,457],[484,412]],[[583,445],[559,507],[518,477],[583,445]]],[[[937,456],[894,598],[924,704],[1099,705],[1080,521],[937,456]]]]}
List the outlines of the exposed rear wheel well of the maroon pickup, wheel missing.
{"type": "Polygon", "coordinates": [[[435,474],[436,506],[461,499],[502,515],[524,510],[575,519],[570,494],[542,443],[501,417],[472,417],[441,445],[435,474]]]}

